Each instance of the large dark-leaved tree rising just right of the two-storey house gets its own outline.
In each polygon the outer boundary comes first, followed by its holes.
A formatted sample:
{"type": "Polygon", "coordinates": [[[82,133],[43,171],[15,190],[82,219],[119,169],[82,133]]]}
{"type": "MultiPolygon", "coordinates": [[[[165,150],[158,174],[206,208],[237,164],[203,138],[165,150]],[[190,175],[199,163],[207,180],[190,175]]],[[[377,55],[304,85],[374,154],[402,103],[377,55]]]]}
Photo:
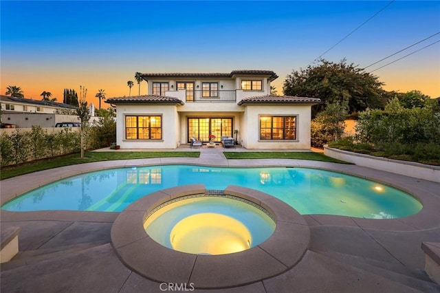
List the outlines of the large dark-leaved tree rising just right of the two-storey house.
{"type": "MultiPolygon", "coordinates": [[[[333,103],[349,101],[349,112],[363,111],[367,107],[383,108],[386,98],[384,89],[377,76],[365,72],[345,59],[333,63],[320,59],[318,65],[309,65],[306,69],[294,70],[285,79],[284,94],[287,96],[306,96],[320,98],[322,102],[333,103]]],[[[325,109],[325,104],[317,111],[325,109]]]]}

